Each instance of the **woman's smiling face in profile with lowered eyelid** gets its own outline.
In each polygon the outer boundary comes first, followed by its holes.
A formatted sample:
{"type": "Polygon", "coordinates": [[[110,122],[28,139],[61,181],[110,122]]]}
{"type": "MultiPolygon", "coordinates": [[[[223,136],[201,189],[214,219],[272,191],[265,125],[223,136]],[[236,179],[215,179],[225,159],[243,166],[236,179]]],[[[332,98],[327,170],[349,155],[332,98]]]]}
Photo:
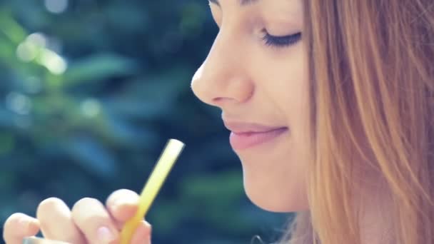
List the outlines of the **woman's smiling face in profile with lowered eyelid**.
{"type": "Polygon", "coordinates": [[[265,210],[306,210],[311,152],[302,2],[213,0],[210,6],[219,31],[193,76],[193,92],[221,108],[248,198],[265,210]]]}

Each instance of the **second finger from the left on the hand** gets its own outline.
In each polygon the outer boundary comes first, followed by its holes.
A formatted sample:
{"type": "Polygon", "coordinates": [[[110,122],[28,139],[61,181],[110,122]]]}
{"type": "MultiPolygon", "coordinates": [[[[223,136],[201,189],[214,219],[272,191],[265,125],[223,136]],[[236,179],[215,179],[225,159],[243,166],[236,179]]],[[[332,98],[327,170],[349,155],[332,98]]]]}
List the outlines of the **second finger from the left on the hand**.
{"type": "Polygon", "coordinates": [[[68,243],[84,243],[84,236],[72,220],[71,210],[59,198],[48,198],[39,203],[36,217],[45,238],[68,243]]]}

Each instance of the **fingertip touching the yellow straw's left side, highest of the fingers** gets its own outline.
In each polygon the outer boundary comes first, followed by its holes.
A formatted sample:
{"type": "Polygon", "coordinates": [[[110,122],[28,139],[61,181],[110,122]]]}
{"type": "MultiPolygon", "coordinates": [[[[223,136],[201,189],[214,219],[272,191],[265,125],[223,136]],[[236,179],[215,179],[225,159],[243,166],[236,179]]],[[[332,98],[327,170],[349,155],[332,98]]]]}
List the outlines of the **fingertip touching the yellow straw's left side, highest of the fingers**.
{"type": "Polygon", "coordinates": [[[116,190],[109,195],[106,206],[118,225],[123,225],[136,213],[138,208],[138,195],[132,190],[116,190]]]}

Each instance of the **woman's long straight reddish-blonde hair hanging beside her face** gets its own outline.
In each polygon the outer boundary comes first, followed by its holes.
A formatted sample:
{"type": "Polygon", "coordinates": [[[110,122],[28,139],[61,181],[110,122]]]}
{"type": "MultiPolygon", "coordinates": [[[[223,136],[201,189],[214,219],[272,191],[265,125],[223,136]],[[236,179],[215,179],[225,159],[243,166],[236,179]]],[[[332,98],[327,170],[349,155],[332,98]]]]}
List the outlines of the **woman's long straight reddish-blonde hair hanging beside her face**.
{"type": "Polygon", "coordinates": [[[433,1],[304,2],[310,210],[282,243],[359,244],[352,193],[363,167],[390,192],[393,243],[434,243],[433,1]]]}

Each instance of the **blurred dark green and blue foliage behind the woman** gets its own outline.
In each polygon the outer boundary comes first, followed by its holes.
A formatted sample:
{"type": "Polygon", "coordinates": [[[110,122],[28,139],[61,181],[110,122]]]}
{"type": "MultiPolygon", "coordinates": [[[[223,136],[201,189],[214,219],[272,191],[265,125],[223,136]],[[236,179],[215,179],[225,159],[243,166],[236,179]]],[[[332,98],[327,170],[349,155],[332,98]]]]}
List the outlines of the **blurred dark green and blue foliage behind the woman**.
{"type": "Polygon", "coordinates": [[[276,240],[288,216],[246,198],[221,111],[191,92],[217,31],[205,0],[1,0],[1,223],[52,196],[140,191],[177,138],[153,243],[276,240]]]}

